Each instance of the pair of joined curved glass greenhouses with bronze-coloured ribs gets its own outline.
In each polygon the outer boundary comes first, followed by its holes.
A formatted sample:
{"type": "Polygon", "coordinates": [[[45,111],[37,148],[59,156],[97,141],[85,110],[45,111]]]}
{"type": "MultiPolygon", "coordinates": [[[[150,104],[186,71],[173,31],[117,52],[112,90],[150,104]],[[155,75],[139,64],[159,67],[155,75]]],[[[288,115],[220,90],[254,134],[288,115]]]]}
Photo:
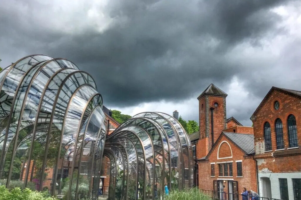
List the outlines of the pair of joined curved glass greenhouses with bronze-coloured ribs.
{"type": "Polygon", "coordinates": [[[135,115],[106,136],[94,79],[72,62],[21,58],[0,72],[0,184],[98,199],[103,157],[109,199],[154,199],[193,184],[187,133],[160,112],[135,115]]]}

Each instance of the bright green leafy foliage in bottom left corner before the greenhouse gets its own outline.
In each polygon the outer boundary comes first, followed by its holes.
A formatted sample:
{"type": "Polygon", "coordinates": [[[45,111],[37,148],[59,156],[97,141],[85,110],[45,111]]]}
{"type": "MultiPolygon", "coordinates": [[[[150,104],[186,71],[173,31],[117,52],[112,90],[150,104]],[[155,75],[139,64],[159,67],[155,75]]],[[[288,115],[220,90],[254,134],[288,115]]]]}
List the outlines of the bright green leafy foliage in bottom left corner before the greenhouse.
{"type": "Polygon", "coordinates": [[[21,190],[19,187],[9,190],[1,185],[0,200],[56,200],[56,198],[50,197],[48,192],[36,192],[28,188],[21,190]]]}

